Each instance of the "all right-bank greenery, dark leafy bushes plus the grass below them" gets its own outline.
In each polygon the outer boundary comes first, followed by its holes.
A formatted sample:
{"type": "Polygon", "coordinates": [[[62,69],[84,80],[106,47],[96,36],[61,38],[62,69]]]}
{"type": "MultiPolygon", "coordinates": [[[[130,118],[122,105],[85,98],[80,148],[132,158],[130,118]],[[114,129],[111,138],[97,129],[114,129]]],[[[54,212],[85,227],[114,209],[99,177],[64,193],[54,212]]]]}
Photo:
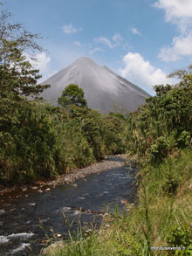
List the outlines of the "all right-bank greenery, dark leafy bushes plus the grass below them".
{"type": "Polygon", "coordinates": [[[105,218],[99,232],[64,241],[47,255],[192,254],[191,71],[171,74],[181,81],[155,86],[156,95],[127,116],[127,152],[141,166],[137,204],[127,204],[124,216],[105,218]],[[152,249],[161,246],[185,250],[152,249]]]}

